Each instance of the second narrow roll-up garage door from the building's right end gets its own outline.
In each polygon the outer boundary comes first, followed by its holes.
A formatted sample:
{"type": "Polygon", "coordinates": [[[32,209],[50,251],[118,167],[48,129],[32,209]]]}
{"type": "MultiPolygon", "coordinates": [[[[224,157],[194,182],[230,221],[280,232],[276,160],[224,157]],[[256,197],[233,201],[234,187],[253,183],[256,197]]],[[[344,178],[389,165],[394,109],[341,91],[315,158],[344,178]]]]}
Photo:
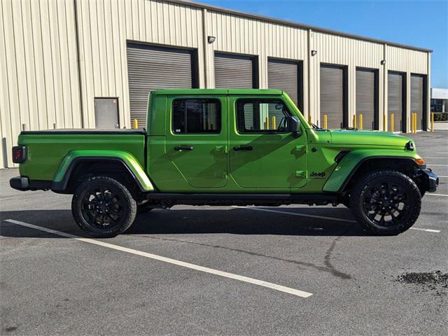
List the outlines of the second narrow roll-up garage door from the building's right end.
{"type": "MultiPolygon", "coordinates": [[[[405,129],[402,116],[405,111],[404,76],[402,73],[389,72],[387,75],[387,111],[388,118],[393,113],[393,130],[402,132],[405,129]]],[[[390,119],[389,119],[390,120],[390,119]]]]}

